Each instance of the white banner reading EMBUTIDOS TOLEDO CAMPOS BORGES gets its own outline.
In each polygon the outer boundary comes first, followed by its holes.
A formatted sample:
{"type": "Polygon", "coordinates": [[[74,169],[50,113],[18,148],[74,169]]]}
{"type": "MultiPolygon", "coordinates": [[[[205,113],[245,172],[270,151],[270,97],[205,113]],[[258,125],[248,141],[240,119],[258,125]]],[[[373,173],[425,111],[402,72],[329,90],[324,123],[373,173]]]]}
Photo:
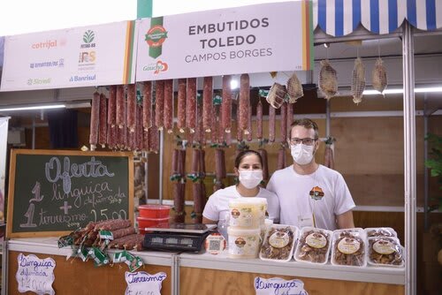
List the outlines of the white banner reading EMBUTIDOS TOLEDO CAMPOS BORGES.
{"type": "Polygon", "coordinates": [[[312,69],[311,2],[137,20],[136,80],[312,69]]]}

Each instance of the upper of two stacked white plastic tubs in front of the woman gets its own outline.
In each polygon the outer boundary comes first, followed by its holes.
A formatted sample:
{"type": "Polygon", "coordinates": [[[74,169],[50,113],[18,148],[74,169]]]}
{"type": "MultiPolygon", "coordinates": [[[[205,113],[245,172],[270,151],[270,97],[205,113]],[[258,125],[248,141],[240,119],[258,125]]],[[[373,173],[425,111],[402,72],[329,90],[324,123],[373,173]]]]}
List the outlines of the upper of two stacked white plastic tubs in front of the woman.
{"type": "Polygon", "coordinates": [[[264,198],[238,198],[229,200],[230,226],[259,229],[264,224],[267,200],[264,198]]]}

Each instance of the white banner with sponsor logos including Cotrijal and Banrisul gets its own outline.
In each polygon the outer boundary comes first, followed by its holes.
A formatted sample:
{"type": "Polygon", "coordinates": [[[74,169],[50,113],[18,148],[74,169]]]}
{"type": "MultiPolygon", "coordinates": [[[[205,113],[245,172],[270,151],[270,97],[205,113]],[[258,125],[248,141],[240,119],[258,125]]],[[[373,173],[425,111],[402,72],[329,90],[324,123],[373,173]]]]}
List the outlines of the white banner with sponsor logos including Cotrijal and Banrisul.
{"type": "Polygon", "coordinates": [[[134,21],[5,37],[0,90],[133,83],[134,21]]]}

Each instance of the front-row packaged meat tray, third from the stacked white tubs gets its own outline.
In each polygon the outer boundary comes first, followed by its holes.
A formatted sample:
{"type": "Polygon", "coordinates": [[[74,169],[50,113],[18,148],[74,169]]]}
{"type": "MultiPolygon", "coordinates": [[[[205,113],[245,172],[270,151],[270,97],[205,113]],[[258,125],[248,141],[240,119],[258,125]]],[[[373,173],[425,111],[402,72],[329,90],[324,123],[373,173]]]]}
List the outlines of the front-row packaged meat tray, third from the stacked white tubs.
{"type": "Polygon", "coordinates": [[[365,267],[367,238],[361,228],[333,231],[331,264],[365,267]]]}

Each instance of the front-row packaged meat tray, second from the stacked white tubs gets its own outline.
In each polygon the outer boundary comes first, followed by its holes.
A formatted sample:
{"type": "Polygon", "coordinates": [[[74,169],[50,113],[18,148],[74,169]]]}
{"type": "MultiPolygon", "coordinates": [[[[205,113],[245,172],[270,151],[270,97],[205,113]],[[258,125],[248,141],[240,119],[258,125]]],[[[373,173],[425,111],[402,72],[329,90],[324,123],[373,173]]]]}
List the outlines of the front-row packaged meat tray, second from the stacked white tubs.
{"type": "Polygon", "coordinates": [[[325,264],[329,260],[331,236],[333,231],[310,226],[301,229],[294,260],[309,263],[325,264]]]}

